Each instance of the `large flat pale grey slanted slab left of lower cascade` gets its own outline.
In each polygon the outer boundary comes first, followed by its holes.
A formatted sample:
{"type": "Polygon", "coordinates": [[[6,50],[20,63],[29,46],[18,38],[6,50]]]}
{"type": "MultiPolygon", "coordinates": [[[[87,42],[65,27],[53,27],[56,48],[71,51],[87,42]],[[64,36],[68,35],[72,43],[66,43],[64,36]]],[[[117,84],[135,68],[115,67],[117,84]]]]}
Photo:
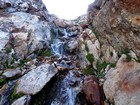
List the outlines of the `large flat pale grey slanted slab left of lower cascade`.
{"type": "Polygon", "coordinates": [[[57,69],[49,64],[42,64],[22,76],[17,82],[16,93],[34,95],[38,93],[57,73],[57,69]]]}

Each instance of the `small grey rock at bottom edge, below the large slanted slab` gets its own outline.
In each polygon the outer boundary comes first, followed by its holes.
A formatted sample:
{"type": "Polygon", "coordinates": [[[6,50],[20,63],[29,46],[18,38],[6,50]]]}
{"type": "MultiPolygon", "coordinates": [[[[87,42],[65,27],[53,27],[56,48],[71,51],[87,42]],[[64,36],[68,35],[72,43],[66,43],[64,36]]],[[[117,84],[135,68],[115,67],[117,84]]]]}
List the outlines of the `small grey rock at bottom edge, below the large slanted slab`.
{"type": "Polygon", "coordinates": [[[31,96],[25,95],[12,103],[12,105],[29,105],[31,96]]]}

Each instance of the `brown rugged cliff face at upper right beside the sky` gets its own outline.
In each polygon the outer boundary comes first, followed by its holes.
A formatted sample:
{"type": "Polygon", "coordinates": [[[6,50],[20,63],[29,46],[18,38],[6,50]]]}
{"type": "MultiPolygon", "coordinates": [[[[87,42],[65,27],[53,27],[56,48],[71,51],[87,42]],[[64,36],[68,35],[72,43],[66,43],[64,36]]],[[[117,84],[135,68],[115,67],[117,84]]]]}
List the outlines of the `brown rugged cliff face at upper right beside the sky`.
{"type": "Polygon", "coordinates": [[[101,44],[119,53],[131,49],[140,56],[139,6],[139,0],[95,0],[88,8],[88,22],[101,44]]]}

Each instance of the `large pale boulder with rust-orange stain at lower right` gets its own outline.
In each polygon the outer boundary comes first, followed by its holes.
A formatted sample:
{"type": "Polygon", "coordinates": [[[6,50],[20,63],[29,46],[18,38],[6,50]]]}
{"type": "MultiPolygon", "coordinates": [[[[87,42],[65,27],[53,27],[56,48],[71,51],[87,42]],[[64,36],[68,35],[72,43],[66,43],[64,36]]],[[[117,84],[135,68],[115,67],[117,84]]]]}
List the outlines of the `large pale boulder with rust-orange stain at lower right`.
{"type": "Polygon", "coordinates": [[[115,105],[140,104],[140,63],[128,62],[126,55],[122,55],[106,78],[104,92],[108,100],[114,100],[115,105]]]}

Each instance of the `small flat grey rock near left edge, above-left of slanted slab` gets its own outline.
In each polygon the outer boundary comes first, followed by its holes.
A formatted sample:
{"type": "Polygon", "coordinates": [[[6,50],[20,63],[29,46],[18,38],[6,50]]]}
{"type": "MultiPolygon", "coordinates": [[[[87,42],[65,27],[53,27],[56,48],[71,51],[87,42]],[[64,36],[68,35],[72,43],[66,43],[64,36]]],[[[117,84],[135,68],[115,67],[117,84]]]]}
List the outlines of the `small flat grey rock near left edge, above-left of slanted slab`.
{"type": "Polygon", "coordinates": [[[7,69],[4,71],[2,75],[5,76],[6,78],[11,78],[20,74],[21,71],[19,69],[7,69]]]}

